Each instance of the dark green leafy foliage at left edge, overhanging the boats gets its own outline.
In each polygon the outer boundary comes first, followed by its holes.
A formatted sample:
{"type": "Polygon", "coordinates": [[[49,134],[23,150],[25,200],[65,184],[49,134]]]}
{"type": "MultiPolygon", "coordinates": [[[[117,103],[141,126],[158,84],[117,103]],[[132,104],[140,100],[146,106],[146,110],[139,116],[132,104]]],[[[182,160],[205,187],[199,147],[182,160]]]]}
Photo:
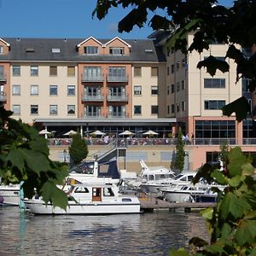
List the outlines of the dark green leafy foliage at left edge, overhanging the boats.
{"type": "Polygon", "coordinates": [[[4,184],[24,181],[27,198],[35,189],[45,202],[67,207],[67,195],[56,187],[67,177],[67,165],[49,160],[49,148],[38,131],[21,120],[11,119],[11,111],[0,107],[0,177],[4,184]]]}

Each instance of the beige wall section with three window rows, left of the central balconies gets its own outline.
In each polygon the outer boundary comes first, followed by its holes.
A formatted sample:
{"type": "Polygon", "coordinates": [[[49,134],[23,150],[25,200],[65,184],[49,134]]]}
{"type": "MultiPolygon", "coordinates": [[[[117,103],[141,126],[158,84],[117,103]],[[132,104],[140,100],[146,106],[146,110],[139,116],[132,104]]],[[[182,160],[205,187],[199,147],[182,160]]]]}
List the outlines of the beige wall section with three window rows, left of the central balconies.
{"type": "Polygon", "coordinates": [[[10,108],[20,106],[15,119],[32,124],[38,118],[77,118],[78,68],[74,63],[17,62],[10,69],[15,67],[20,67],[20,75],[10,75],[10,108]],[[54,67],[54,75],[50,67],[54,67]],[[68,67],[74,68],[74,75],[67,74],[68,67]],[[68,95],[68,88],[74,88],[74,93],[68,95]],[[38,112],[32,113],[32,106],[38,106],[38,112]],[[67,113],[67,106],[73,106],[75,112],[67,113]]]}

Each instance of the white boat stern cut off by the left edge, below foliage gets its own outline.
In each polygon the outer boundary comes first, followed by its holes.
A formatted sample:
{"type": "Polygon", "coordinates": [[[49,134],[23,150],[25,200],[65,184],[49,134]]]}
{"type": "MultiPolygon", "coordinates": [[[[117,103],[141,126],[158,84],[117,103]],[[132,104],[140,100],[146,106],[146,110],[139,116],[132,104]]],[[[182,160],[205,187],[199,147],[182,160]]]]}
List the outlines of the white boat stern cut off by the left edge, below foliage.
{"type": "Polygon", "coordinates": [[[0,185],[0,196],[4,205],[20,205],[20,184],[0,185]]]}

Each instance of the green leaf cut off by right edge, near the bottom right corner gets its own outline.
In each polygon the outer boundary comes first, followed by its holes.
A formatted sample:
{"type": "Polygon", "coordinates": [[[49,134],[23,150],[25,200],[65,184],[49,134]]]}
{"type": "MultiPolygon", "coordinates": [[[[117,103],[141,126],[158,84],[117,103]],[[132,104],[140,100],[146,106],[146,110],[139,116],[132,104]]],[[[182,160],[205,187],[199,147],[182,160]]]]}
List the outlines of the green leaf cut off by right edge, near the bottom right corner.
{"type": "Polygon", "coordinates": [[[256,220],[241,220],[236,230],[236,240],[239,246],[253,244],[256,240],[256,220]]]}

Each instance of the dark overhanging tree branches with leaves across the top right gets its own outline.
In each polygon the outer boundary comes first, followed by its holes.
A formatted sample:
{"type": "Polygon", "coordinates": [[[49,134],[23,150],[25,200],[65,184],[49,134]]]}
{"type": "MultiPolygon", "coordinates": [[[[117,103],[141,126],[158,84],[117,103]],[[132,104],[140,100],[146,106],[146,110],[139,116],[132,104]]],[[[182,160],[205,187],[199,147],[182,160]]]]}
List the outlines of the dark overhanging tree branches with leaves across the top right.
{"type": "MultiPolygon", "coordinates": [[[[210,49],[212,42],[229,44],[226,57],[236,61],[236,80],[247,79],[248,89],[256,89],[256,54],[247,57],[242,48],[251,48],[256,43],[256,3],[252,0],[235,0],[230,8],[218,4],[217,0],[97,0],[93,16],[102,20],[113,8],[129,9],[129,13],[119,21],[119,32],[130,32],[133,26],[145,26],[148,15],[149,26],[154,30],[164,29],[172,34],[166,42],[169,49],[181,49],[184,53],[210,49]],[[188,45],[186,34],[195,32],[195,38],[188,45]]],[[[206,67],[212,76],[219,69],[223,73],[230,69],[226,61],[210,55],[198,63],[206,67]]],[[[236,113],[241,121],[250,111],[245,97],[224,106],[224,115],[236,113]]],[[[256,110],[254,111],[256,113],[256,110]]]]}

